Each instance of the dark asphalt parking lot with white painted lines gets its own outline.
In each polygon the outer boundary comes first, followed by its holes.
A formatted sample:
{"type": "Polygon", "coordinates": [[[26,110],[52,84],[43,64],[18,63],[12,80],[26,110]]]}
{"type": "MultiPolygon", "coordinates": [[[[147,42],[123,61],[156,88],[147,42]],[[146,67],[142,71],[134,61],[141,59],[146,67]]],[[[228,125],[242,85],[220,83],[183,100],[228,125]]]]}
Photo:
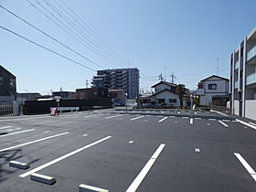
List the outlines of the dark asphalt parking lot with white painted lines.
{"type": "Polygon", "coordinates": [[[255,123],[158,113],[1,118],[0,191],[255,191],[255,123]]]}

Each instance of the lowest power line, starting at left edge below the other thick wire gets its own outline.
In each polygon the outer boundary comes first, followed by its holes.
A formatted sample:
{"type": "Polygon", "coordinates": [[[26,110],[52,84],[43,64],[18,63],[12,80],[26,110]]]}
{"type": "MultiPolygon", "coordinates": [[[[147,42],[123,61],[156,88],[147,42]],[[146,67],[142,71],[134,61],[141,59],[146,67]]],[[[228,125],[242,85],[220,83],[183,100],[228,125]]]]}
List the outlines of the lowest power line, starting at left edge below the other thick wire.
{"type": "Polygon", "coordinates": [[[91,69],[91,68],[87,67],[86,65],[81,64],[80,62],[78,62],[78,61],[76,61],[76,60],[73,60],[73,59],[69,59],[68,57],[63,56],[63,55],[61,55],[60,53],[58,53],[58,52],[56,52],[56,51],[54,51],[54,50],[51,50],[50,48],[46,48],[45,46],[42,46],[42,45],[38,44],[37,42],[28,39],[27,37],[23,37],[23,36],[17,34],[16,32],[14,32],[14,31],[12,31],[12,30],[6,28],[6,27],[0,26],[0,28],[4,29],[5,31],[7,31],[7,32],[9,32],[9,33],[12,33],[13,35],[16,35],[17,37],[20,37],[20,38],[23,38],[24,40],[27,40],[28,42],[30,42],[30,43],[36,45],[36,46],[39,47],[39,48],[43,48],[43,49],[45,49],[45,50],[48,50],[49,52],[51,52],[51,53],[53,53],[53,54],[55,54],[55,55],[58,55],[59,57],[61,57],[61,58],[63,58],[63,59],[67,59],[67,60],[69,60],[69,61],[71,61],[71,62],[73,62],[73,63],[75,63],[75,64],[77,64],[77,65],[80,65],[80,66],[83,67],[83,68],[90,69],[90,70],[96,72],[96,70],[91,69]]]}

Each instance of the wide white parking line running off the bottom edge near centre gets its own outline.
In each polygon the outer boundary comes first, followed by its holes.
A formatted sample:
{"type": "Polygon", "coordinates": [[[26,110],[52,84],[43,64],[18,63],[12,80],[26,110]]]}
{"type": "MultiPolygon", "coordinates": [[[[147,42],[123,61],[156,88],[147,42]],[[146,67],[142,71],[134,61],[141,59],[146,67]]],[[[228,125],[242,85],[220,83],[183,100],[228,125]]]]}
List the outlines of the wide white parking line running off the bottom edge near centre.
{"type": "Polygon", "coordinates": [[[140,186],[144,177],[147,175],[150,168],[154,165],[156,158],[158,155],[161,154],[162,150],[164,149],[165,144],[160,144],[160,146],[156,149],[155,154],[151,156],[149,161],[144,165],[144,168],[141,170],[139,175],[133,180],[133,183],[130,187],[127,188],[126,192],[135,192],[137,188],[140,186]]]}

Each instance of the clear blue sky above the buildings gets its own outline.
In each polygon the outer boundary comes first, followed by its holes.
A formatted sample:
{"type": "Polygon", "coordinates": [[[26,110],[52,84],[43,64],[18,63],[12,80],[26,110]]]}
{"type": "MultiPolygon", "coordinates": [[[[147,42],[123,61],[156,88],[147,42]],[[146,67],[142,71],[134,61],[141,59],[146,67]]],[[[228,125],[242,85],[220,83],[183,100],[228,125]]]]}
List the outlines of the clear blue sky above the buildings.
{"type": "MultiPolygon", "coordinates": [[[[38,5],[36,0],[29,1],[38,5]]],[[[47,7],[43,0],[37,1],[47,7]]],[[[61,5],[60,0],[50,2],[56,7],[58,5],[55,2],[61,5]]],[[[256,26],[255,0],[65,2],[104,42],[119,53],[114,56],[118,61],[112,64],[110,59],[101,59],[110,57],[110,52],[101,53],[101,49],[96,48],[98,54],[95,54],[51,23],[26,0],[0,0],[0,5],[103,68],[137,67],[141,71],[140,83],[144,90],[150,90],[161,72],[165,74],[166,80],[170,80],[169,76],[173,72],[176,83],[196,89],[199,80],[216,74],[217,58],[219,75],[228,78],[230,53],[238,48],[240,41],[256,26]]],[[[26,26],[3,9],[0,9],[0,17],[0,26],[12,29],[92,69],[100,69],[26,26]]],[[[83,32],[87,33],[86,30],[83,32]]],[[[85,87],[86,80],[91,80],[96,74],[37,48],[3,29],[0,29],[0,39],[0,64],[16,75],[17,91],[39,91],[47,94],[51,90],[59,91],[60,87],[65,91],[75,91],[76,88],[85,87]]]]}

